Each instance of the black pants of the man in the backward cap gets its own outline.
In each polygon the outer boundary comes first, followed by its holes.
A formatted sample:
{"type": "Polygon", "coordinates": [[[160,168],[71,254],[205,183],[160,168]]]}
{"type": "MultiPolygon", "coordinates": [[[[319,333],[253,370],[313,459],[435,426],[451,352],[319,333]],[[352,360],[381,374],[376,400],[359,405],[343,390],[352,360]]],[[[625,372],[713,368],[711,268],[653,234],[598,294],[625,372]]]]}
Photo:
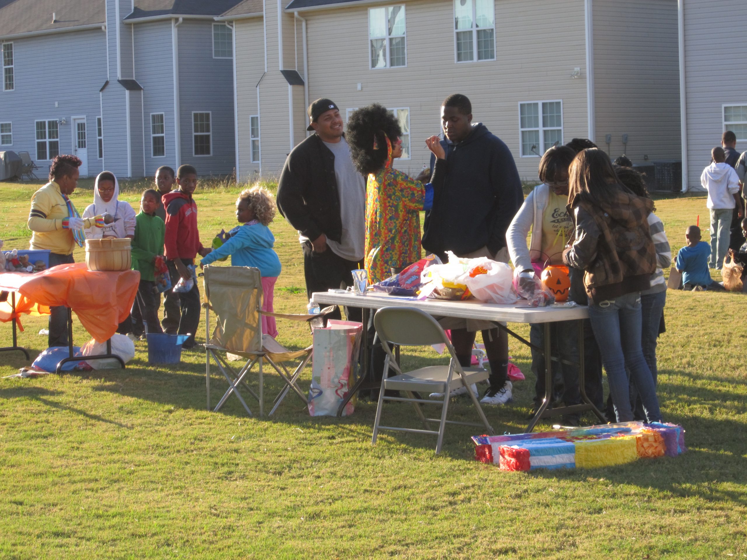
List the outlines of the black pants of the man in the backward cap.
{"type": "MultiPolygon", "coordinates": [[[[351,270],[363,268],[363,261],[347,261],[338,256],[329,246],[324,252],[315,253],[311,243],[303,243],[303,276],[306,278],[306,297],[311,299],[311,293],[338,290],[340,287],[353,285],[351,270]]],[[[350,321],[362,320],[360,308],[345,308],[345,315],[350,321]]],[[[327,319],[341,319],[340,309],[337,308],[327,315],[327,319]]]]}

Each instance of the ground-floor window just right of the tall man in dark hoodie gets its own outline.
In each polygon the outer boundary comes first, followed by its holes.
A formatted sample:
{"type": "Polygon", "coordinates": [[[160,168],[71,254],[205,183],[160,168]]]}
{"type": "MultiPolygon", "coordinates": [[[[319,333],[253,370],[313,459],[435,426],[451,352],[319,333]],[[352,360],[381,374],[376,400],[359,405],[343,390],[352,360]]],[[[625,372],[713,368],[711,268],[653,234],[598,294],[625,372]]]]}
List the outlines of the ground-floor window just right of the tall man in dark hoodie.
{"type": "Polygon", "coordinates": [[[562,144],[561,101],[519,103],[518,122],[522,158],[539,157],[554,144],[562,144]]]}

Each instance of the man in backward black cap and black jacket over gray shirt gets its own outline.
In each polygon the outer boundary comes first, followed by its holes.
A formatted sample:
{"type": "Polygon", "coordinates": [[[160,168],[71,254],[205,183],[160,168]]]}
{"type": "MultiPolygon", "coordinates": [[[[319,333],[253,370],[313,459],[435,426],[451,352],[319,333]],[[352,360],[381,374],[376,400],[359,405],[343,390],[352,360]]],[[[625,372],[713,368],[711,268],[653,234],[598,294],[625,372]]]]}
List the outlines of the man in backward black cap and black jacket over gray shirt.
{"type": "MultiPolygon", "coordinates": [[[[285,160],[277,205],[298,230],[303,247],[306,294],[353,284],[351,270],[363,268],[365,179],[353,167],[337,105],[317,99],[309,105],[313,130],[285,160]]],[[[361,310],[346,310],[361,320],[361,310]]],[[[339,319],[340,311],[329,318],[339,319]]]]}

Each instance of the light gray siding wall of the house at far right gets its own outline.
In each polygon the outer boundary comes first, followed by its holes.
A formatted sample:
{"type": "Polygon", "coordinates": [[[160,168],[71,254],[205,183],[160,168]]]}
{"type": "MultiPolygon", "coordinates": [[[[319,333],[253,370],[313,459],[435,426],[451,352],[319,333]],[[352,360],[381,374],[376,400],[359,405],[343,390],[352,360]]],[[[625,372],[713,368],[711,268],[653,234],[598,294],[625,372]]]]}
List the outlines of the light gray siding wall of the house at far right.
{"type": "MultiPolygon", "coordinates": [[[[722,105],[747,105],[746,10],[738,0],[686,0],[684,57],[688,184],[701,189],[710,150],[720,146],[722,105]],[[731,16],[728,16],[731,14],[731,16]]],[[[747,150],[747,143],[737,143],[747,150]]]]}

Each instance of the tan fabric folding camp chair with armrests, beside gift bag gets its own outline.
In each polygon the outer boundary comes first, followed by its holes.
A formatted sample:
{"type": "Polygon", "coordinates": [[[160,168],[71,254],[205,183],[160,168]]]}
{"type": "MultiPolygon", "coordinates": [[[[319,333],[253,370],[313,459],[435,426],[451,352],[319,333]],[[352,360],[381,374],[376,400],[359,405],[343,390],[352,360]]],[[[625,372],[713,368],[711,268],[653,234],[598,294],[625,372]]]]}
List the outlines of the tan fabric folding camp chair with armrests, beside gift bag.
{"type": "MultiPolygon", "coordinates": [[[[288,350],[270,335],[262,335],[261,314],[282,319],[311,321],[320,315],[294,315],[282,313],[265,313],[261,311],[262,283],[259,270],[251,267],[216,267],[204,269],[205,279],[205,385],[208,391],[208,410],[210,409],[210,358],[214,359],[218,369],[229,382],[229,389],[214,408],[220,410],[226,399],[233,393],[252,416],[247,402],[241,396],[239,387],[246,389],[259,402],[259,415],[264,415],[264,364],[270,364],[285,382],[270,415],[276,411],[282,399],[291,389],[308,404],[306,395],[297,385],[297,380],[311,359],[312,346],[303,350],[288,350]],[[210,312],[213,311],[216,325],[210,332],[210,312]],[[225,353],[225,355],[222,355],[225,353]],[[229,361],[246,359],[238,372],[229,365],[229,361]],[[300,360],[293,373],[285,367],[287,361],[300,360]],[[246,378],[252,367],[258,366],[258,392],[249,388],[246,378]]],[[[327,314],[333,308],[324,308],[321,314],[327,314]]]]}

